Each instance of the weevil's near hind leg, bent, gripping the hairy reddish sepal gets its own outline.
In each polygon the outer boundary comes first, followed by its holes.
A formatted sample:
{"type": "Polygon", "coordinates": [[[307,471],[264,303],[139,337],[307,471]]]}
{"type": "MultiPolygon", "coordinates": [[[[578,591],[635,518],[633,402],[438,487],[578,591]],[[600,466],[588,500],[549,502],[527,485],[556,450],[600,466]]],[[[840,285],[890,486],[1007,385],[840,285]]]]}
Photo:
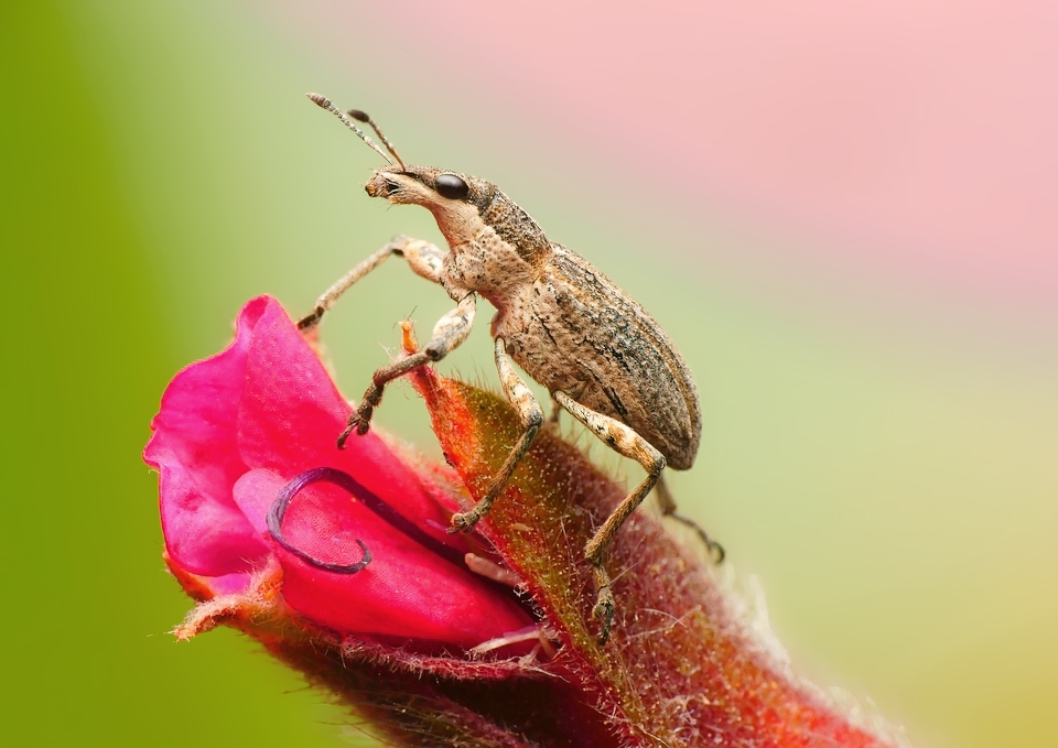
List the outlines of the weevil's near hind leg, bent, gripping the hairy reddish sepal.
{"type": "Polygon", "coordinates": [[[611,512],[606,521],[603,522],[595,535],[587,541],[584,546],[584,557],[591,562],[595,573],[595,587],[598,589],[595,607],[592,608],[592,615],[598,618],[603,624],[603,631],[598,636],[598,643],[606,643],[609,637],[609,627],[614,619],[614,593],[609,586],[612,584],[609,573],[603,565],[603,556],[606,555],[606,549],[609,548],[617,530],[625,523],[625,520],[635,511],[636,507],[646,498],[654,488],[654,485],[661,476],[665,469],[665,456],[654,448],[647,440],[628,427],[626,424],[603,415],[568,395],[561,390],[551,393],[555,401],[568,410],[573,418],[587,426],[596,436],[605,442],[612,449],[618,452],[625,457],[635,459],[647,470],[646,479],[636,486],[625,500],[617,505],[617,508],[611,512]]]}

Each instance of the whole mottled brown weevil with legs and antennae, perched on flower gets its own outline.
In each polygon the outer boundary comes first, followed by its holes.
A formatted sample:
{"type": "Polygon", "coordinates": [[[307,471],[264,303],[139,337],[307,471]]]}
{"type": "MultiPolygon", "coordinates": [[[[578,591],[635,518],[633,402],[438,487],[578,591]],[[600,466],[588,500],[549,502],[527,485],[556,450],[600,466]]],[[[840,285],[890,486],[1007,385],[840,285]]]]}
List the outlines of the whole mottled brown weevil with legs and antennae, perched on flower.
{"type": "Polygon", "coordinates": [[[487,299],[497,310],[492,324],[496,368],[525,431],[485,496],[468,511],[452,517],[452,531],[471,531],[488,512],[543,423],[543,411],[511,366],[514,360],[548,389],[558,406],[647,470],[646,479],[584,549],[597,587],[593,615],[602,622],[600,641],[605,642],[615,604],[603,559],[618,528],[655,485],[662,511],[693,527],[723,559],[720,545],[674,513],[676,503],[661,478],[666,465],[685,470],[698,453],[701,411],[690,369],[639,304],[583,258],[550,241],[495,185],[467,174],[406,164],[367,115],[350,110],[346,116],[319,94],[309,98],[336,115],[389,162],[368,180],[367,194],[429,209],[449,251],[419,239],[395,238],[328,289],[299,327],[311,329],[338,296],[390,254],[403,257],[412,271],[443,286],[456,304],[438,322],[422,350],[375,372],[338,446],[354,431],[367,433],[388,382],[441,360],[463,343],[474,323],[478,294],[487,299]],[[393,158],[349,117],[370,124],[393,158]]]}

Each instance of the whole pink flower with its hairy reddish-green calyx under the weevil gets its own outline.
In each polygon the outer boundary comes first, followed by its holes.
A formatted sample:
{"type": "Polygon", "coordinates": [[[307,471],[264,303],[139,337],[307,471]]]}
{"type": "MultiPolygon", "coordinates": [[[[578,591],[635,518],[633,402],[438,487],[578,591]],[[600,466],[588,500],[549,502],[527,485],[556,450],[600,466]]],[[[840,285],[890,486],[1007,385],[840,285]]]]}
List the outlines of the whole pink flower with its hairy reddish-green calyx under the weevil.
{"type": "Polygon", "coordinates": [[[552,425],[481,535],[449,535],[520,426],[494,394],[428,367],[411,379],[451,469],[375,432],[338,451],[349,408],[268,297],[244,307],[231,346],[173,379],[144,458],[170,568],[199,601],[179,637],[236,627],[395,745],[900,742],[796,679],[700,554],[643,510],[607,557],[618,608],[600,646],[583,548],[627,489],[552,425]]]}

